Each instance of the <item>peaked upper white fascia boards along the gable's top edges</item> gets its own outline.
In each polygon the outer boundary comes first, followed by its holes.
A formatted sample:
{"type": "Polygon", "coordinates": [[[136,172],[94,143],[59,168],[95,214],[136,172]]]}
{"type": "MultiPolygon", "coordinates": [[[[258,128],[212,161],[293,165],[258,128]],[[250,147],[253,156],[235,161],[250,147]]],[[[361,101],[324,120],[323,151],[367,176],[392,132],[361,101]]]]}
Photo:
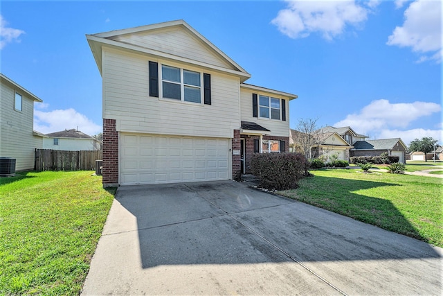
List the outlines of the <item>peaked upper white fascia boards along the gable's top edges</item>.
{"type": "Polygon", "coordinates": [[[179,19],[177,21],[166,21],[166,22],[163,22],[163,23],[152,24],[152,25],[147,25],[147,26],[138,26],[138,27],[135,27],[135,28],[126,28],[126,29],[123,29],[123,30],[109,31],[109,32],[105,32],[105,33],[98,33],[98,34],[93,34],[93,36],[101,37],[101,38],[109,38],[109,37],[114,37],[114,36],[117,36],[117,35],[134,34],[134,33],[139,33],[139,32],[143,32],[143,31],[155,31],[155,30],[159,30],[159,29],[163,29],[163,28],[170,28],[170,27],[173,27],[173,26],[183,26],[183,27],[185,27],[186,29],[188,29],[188,31],[190,31],[190,33],[192,33],[197,38],[197,40],[201,40],[211,50],[215,51],[218,55],[220,55],[221,58],[224,58],[224,60],[226,60],[226,62],[228,62],[228,64],[232,64],[233,67],[237,68],[240,72],[248,74],[249,75],[248,77],[251,77],[251,75],[245,69],[240,67],[239,64],[237,64],[236,62],[234,62],[234,60],[229,58],[228,55],[226,55],[223,51],[221,51],[212,42],[207,40],[206,37],[204,37],[203,35],[201,35],[197,31],[195,31],[195,29],[192,28],[192,26],[190,26],[183,19],[179,19]]]}

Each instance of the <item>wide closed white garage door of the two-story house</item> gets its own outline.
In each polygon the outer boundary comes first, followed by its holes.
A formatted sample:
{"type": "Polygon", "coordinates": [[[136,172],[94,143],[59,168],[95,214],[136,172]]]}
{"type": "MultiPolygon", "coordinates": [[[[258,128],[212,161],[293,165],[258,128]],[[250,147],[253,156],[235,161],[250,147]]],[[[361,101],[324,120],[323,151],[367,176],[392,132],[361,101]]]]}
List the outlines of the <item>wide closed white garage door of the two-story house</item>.
{"type": "Polygon", "coordinates": [[[120,184],[228,180],[230,139],[120,134],[120,184]]]}

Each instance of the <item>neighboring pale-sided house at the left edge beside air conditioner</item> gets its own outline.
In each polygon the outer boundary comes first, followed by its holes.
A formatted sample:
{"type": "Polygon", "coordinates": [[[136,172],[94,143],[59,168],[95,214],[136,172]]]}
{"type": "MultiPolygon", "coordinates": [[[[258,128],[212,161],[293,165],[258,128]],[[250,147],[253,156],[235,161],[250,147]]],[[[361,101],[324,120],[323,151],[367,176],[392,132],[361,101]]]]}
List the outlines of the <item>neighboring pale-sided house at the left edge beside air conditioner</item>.
{"type": "Polygon", "coordinates": [[[34,102],[42,99],[2,73],[0,82],[0,157],[15,158],[16,171],[32,170],[42,147],[33,134],[34,102]]]}

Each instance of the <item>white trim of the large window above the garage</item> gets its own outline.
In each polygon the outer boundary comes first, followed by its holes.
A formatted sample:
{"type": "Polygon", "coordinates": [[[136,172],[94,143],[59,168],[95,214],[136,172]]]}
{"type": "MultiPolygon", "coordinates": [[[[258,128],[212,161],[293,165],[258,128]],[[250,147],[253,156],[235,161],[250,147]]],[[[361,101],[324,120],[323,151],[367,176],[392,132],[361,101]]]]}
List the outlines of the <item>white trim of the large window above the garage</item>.
{"type": "Polygon", "coordinates": [[[161,62],[159,62],[159,99],[161,100],[165,100],[165,101],[170,101],[170,102],[180,102],[180,103],[189,103],[192,105],[204,105],[204,73],[202,71],[195,71],[192,69],[185,69],[182,67],[177,67],[173,64],[163,64],[161,62]],[[175,68],[175,69],[179,69],[180,70],[180,82],[175,82],[175,81],[170,81],[170,80],[163,80],[163,66],[165,67],[171,67],[171,68],[175,68]],[[184,82],[184,72],[185,71],[190,71],[190,72],[194,72],[194,73],[199,73],[199,78],[200,78],[200,85],[189,85],[186,84],[184,82]],[[178,100],[177,98],[166,98],[163,96],[163,82],[168,82],[168,83],[173,83],[173,84],[177,84],[180,85],[180,100],[178,100]],[[195,89],[199,89],[200,92],[200,101],[199,102],[192,102],[192,101],[186,101],[185,100],[185,87],[190,87],[190,88],[195,88],[195,89]]]}

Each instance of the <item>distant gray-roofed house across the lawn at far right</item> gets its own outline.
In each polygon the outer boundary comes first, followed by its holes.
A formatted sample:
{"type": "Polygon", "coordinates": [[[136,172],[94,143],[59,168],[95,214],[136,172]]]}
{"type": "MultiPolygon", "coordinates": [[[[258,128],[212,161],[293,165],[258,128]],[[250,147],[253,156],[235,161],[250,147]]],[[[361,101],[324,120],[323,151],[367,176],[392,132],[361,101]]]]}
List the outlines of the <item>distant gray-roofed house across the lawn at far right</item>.
{"type": "Polygon", "coordinates": [[[379,156],[388,153],[390,156],[398,156],[399,162],[406,164],[406,147],[400,138],[356,141],[351,150],[351,156],[379,156]]]}

